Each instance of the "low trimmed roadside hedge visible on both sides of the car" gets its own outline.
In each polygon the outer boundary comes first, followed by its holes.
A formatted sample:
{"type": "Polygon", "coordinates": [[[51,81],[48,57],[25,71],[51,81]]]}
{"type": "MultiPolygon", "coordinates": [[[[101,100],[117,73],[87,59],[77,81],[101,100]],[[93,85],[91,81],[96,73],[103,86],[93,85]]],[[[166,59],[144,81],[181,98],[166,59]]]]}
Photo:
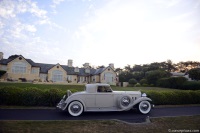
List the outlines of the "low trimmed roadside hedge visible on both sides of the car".
{"type": "MultiPolygon", "coordinates": [[[[144,92],[155,105],[200,104],[200,90],[144,92]]],[[[65,93],[60,89],[2,87],[0,88],[0,105],[55,107],[65,93]]]]}

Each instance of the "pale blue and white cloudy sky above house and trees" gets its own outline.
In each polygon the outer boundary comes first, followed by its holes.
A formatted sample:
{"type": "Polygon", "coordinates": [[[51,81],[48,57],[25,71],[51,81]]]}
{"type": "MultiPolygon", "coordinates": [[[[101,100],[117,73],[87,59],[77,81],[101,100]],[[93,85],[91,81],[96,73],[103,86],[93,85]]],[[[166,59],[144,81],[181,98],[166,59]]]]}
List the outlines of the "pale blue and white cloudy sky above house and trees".
{"type": "Polygon", "coordinates": [[[78,67],[200,61],[200,0],[0,0],[0,52],[78,67]]]}

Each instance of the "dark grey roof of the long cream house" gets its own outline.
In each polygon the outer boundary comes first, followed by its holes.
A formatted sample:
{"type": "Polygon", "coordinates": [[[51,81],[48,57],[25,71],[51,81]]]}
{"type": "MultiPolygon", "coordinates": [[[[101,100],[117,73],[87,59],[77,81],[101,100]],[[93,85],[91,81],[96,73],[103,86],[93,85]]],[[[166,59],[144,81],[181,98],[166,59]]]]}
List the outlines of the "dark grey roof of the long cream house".
{"type": "MultiPolygon", "coordinates": [[[[8,59],[0,60],[0,64],[7,65],[12,60],[16,59],[17,57],[23,57],[22,55],[12,55],[8,59]]],[[[23,57],[24,58],[24,57],[23,57]]],[[[44,64],[44,63],[35,63],[31,59],[24,58],[31,66],[33,67],[40,67],[40,73],[48,73],[48,71],[57,64],[44,64]]],[[[60,65],[68,75],[79,75],[79,76],[89,76],[89,75],[98,75],[106,70],[108,67],[101,67],[98,69],[90,68],[90,73],[85,72],[85,68],[79,68],[79,72],[75,72],[75,67],[68,67],[67,65],[60,65]]]]}

